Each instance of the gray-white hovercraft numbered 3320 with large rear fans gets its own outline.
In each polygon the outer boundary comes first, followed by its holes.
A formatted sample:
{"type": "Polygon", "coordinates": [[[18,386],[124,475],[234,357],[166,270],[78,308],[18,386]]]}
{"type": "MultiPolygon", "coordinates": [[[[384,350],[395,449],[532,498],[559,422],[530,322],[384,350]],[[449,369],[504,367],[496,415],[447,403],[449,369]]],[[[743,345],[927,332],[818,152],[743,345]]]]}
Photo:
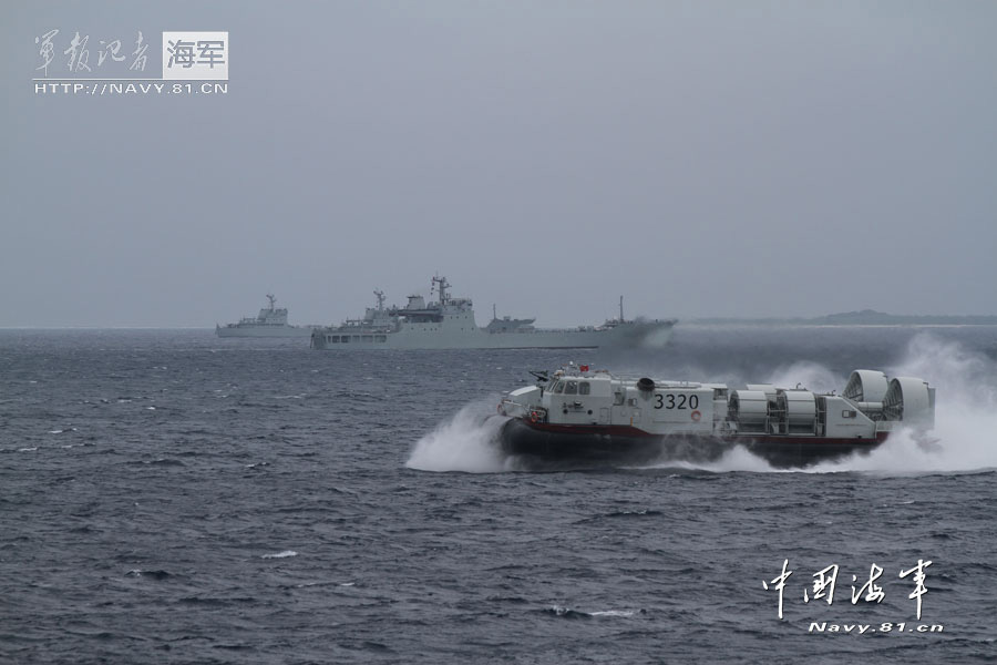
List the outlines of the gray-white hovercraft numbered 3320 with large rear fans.
{"type": "Polygon", "coordinates": [[[841,395],[624,377],[574,364],[498,405],[500,440],[534,468],[716,461],[742,446],[777,468],[867,453],[900,428],[929,430],[935,389],[859,369],[841,395]]]}

